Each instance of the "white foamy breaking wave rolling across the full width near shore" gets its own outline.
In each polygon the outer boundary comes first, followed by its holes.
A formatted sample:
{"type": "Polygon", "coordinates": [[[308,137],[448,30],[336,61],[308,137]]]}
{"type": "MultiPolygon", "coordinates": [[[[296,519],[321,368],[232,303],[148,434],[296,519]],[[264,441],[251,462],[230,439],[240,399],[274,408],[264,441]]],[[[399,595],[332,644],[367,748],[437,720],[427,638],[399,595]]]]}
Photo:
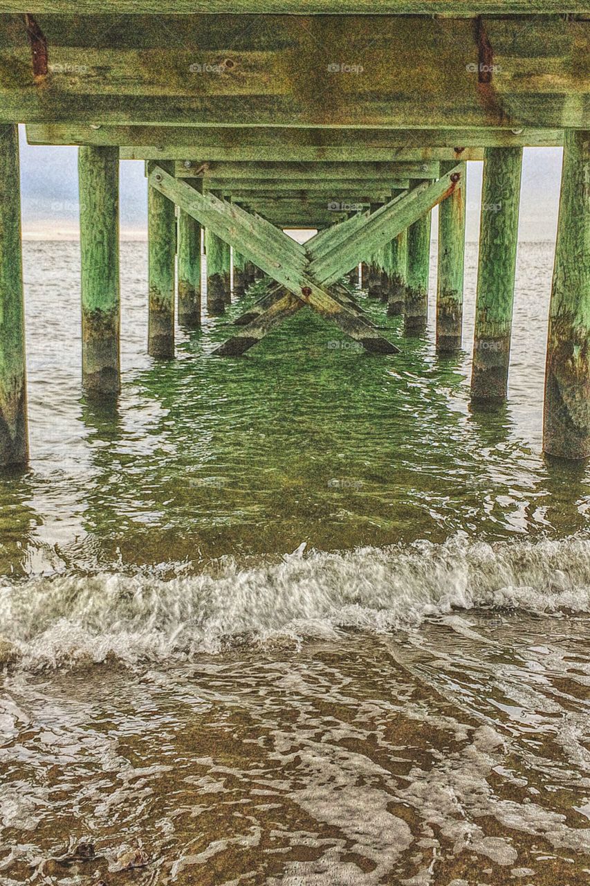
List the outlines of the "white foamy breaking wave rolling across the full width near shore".
{"type": "Polygon", "coordinates": [[[310,552],[190,574],[101,571],[0,583],[0,661],[27,669],[213,654],[238,644],[412,630],[453,610],[590,611],[590,540],[310,552]]]}

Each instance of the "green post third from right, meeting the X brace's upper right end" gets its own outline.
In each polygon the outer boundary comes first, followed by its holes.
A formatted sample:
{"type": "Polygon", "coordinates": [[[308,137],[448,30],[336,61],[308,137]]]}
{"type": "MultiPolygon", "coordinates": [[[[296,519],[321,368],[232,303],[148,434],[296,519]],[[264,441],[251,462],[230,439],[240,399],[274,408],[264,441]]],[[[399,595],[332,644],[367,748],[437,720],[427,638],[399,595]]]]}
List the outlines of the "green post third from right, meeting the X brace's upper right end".
{"type": "MultiPolygon", "coordinates": [[[[454,161],[441,164],[441,172],[454,161]]],[[[437,350],[461,347],[465,268],[465,184],[467,164],[453,193],[439,204],[439,275],[437,284],[437,350]]]]}

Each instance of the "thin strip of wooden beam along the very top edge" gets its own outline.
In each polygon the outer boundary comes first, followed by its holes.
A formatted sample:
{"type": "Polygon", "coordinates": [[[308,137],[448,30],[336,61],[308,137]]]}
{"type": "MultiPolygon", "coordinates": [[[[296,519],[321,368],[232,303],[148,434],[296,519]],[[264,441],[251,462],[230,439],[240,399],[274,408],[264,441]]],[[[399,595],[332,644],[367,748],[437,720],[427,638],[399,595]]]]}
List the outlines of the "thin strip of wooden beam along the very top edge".
{"type": "MultiPolygon", "coordinates": [[[[3,0],[3,12],[32,12],[61,15],[102,13],[144,13],[176,15],[206,12],[251,14],[252,12],[289,15],[334,14],[333,0],[3,0]]],[[[340,0],[341,14],[446,15],[454,18],[474,15],[548,14],[587,12],[586,0],[340,0]],[[376,8],[377,7],[377,8],[376,8]]]]}

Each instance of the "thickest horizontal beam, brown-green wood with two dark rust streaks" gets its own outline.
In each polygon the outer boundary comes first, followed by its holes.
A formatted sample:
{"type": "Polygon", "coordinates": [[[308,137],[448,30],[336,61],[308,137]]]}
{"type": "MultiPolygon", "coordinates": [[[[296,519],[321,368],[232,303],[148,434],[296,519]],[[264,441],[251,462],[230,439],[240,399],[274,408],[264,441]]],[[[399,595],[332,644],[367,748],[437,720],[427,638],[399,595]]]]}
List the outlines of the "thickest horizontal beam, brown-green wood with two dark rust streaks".
{"type": "Polygon", "coordinates": [[[412,15],[36,20],[50,61],[35,74],[22,17],[2,17],[0,122],[587,126],[588,20],[490,17],[477,27],[412,15]]]}

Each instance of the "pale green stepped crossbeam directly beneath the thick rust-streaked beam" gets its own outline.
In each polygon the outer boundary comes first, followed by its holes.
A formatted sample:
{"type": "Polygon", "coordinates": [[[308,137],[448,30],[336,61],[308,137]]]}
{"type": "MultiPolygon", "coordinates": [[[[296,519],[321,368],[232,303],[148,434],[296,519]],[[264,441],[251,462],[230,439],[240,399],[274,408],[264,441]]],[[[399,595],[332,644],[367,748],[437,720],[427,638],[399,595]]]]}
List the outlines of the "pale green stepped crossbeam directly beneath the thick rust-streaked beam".
{"type": "Polygon", "coordinates": [[[482,160],[485,147],[555,147],[563,130],[29,125],[27,141],[117,145],[120,159],[419,162],[482,160]]]}

